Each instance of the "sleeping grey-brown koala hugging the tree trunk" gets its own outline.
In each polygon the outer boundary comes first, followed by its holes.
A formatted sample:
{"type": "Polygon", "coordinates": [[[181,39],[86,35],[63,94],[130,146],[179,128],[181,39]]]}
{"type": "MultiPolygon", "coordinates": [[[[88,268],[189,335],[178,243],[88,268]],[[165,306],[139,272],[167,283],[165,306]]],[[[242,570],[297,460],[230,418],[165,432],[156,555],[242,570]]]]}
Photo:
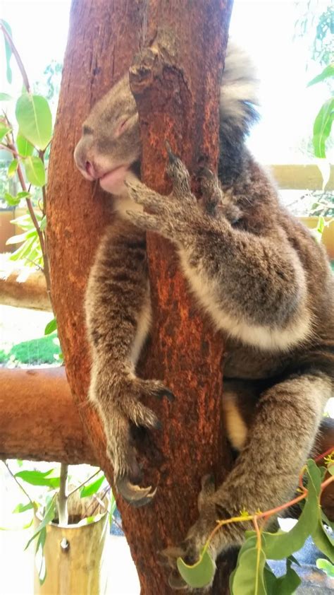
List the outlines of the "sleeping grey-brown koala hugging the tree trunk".
{"type": "MultiPolygon", "coordinates": [[[[216,519],[242,508],[271,509],[292,497],[333,393],[333,276],[321,245],[280,204],[270,175],[246,146],[257,118],[256,88],[249,58],[229,43],[218,177],[203,172],[201,202],[170,148],[171,194],[140,182],[140,127],[128,76],[93,107],[75,148],[80,172],[113,194],[118,213],[87,285],[89,399],[104,425],[116,488],[133,505],[155,494],[139,485],[130,437],[132,424],[159,427],[141,398],[173,399],[160,381],[137,376],[151,322],[145,232],[173,242],[193,299],[225,345],[223,411],[238,455],[223,485],[204,479],[199,519],[180,546],[165,552],[176,588],[185,587],[178,555],[197,560],[216,519]]],[[[245,529],[246,523],[223,526],[210,543],[211,557],[240,546],[245,529]]]]}

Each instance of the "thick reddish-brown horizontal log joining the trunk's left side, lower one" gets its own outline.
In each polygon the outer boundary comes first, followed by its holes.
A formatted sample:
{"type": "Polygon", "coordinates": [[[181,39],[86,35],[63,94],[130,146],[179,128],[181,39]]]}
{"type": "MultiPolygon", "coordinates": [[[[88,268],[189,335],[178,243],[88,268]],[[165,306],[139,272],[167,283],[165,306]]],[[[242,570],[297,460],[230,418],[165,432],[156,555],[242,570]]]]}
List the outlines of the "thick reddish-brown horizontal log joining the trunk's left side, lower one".
{"type": "Polygon", "coordinates": [[[0,458],[97,464],[64,367],[0,369],[0,458]]]}

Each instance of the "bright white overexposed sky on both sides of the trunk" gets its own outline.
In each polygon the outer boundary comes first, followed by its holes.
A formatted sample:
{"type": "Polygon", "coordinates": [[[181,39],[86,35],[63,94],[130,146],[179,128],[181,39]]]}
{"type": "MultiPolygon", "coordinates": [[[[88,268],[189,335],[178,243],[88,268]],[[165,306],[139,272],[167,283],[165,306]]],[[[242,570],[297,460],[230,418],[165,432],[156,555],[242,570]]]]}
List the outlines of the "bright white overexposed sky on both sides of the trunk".
{"type": "MultiPolygon", "coordinates": [[[[2,0],[0,16],[11,25],[31,81],[41,78],[52,59],[63,60],[69,11],[69,0],[2,0]]],[[[292,42],[296,15],[292,0],[234,2],[230,35],[248,49],[261,79],[262,122],[250,145],[265,163],[309,160],[296,145],[311,132],[318,108],[327,98],[326,88],[306,89],[307,81],[321,68],[311,64],[305,70],[305,44],[292,42]]],[[[0,64],[0,90],[18,94],[19,76],[14,76],[11,87],[6,83],[1,40],[0,64]]]]}

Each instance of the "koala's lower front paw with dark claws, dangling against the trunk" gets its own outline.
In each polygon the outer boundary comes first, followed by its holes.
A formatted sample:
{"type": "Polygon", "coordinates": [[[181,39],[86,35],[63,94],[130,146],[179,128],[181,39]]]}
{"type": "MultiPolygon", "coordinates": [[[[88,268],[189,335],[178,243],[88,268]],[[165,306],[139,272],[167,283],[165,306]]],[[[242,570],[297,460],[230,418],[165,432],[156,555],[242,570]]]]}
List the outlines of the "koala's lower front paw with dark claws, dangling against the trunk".
{"type": "Polygon", "coordinates": [[[115,485],[127,502],[139,507],[151,502],[156,490],[140,486],[142,471],[137,462],[131,427],[160,429],[154,411],[145,406],[142,396],[166,396],[173,393],[159,380],[142,380],[133,375],[93,375],[90,400],[97,407],[106,434],[106,452],[113,464],[115,485]]]}

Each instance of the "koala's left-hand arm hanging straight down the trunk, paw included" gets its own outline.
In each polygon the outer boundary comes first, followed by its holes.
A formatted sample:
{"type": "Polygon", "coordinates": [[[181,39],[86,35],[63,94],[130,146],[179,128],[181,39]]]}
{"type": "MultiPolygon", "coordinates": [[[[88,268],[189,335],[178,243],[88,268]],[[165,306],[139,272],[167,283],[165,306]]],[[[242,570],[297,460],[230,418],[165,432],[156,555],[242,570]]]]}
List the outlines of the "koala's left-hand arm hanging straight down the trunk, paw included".
{"type": "Polygon", "coordinates": [[[135,365],[149,331],[151,305],[144,233],[127,221],[106,230],[87,285],[85,310],[92,372],[89,399],[96,406],[113,463],[116,488],[139,506],[153,497],[140,488],[140,466],[131,425],[159,428],[142,396],[172,397],[163,384],[135,375],[135,365]]]}

